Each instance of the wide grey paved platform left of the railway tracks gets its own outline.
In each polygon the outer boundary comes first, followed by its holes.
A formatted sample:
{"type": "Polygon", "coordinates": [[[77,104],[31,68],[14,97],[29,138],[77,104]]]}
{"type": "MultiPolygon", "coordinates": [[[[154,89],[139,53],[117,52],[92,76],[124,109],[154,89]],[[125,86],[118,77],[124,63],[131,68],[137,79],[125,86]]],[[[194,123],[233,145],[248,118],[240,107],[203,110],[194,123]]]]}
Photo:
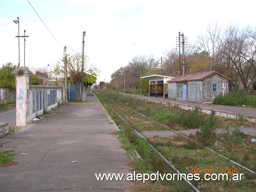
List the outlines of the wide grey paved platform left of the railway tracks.
{"type": "Polygon", "coordinates": [[[47,116],[0,139],[0,151],[15,150],[18,163],[0,168],[0,191],[125,189],[126,181],[96,180],[95,173],[130,171],[123,169],[128,162],[126,151],[111,134],[116,124],[94,94],[85,103],[56,108],[47,116]]]}

